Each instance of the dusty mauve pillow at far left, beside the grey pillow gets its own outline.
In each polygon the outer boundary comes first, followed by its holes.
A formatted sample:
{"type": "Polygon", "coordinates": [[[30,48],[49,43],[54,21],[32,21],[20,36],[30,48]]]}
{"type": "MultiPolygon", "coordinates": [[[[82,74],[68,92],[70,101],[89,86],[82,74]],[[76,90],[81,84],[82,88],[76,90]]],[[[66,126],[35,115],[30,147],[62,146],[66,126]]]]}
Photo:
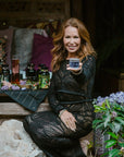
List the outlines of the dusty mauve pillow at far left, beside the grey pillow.
{"type": "Polygon", "coordinates": [[[11,48],[12,48],[12,39],[13,39],[13,28],[0,31],[0,37],[7,38],[7,44],[5,44],[7,63],[9,64],[9,69],[11,69],[11,50],[12,50],[11,48]]]}

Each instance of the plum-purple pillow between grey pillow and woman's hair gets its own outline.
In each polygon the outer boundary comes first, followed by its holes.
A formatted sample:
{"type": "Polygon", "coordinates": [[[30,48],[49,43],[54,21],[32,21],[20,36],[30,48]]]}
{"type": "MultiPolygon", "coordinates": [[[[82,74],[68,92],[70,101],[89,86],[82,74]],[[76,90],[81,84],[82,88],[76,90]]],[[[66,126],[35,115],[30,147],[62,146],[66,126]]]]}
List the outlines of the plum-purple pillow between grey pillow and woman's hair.
{"type": "Polygon", "coordinates": [[[35,64],[35,69],[38,69],[38,64],[44,63],[50,69],[51,64],[51,49],[53,48],[53,43],[51,37],[44,37],[42,35],[34,34],[33,53],[32,60],[35,64]]]}

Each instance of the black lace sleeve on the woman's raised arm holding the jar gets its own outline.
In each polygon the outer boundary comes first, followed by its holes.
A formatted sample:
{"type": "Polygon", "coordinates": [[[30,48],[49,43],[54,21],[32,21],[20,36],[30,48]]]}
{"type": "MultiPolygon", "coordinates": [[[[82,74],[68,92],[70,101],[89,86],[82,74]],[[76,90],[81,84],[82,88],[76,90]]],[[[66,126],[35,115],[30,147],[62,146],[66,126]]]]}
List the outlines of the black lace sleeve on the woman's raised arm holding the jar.
{"type": "Polygon", "coordinates": [[[83,71],[82,73],[79,73],[78,75],[74,75],[74,77],[79,81],[80,83],[82,82],[86,82],[88,81],[91,76],[95,75],[95,72],[96,72],[96,59],[95,57],[92,56],[89,56],[87,57],[87,59],[85,58],[83,60],[83,71]]]}

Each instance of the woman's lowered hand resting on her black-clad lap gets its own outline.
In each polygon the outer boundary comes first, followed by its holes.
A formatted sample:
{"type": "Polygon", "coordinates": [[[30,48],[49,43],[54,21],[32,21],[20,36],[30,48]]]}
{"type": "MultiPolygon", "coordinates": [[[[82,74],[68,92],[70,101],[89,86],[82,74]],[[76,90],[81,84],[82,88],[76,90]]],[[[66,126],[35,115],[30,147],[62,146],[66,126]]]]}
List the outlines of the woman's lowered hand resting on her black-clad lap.
{"type": "Polygon", "coordinates": [[[60,119],[66,125],[66,128],[71,129],[72,131],[76,130],[76,119],[71,112],[64,110],[61,113],[60,119]]]}

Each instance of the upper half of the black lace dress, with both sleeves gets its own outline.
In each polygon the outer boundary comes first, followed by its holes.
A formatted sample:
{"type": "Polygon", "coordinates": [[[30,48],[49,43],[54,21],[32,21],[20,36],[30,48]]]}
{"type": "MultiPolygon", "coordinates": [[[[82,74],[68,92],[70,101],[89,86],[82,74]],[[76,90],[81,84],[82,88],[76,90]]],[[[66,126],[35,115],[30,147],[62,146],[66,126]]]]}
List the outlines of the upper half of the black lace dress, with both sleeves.
{"type": "Polygon", "coordinates": [[[82,62],[83,71],[78,75],[66,70],[67,60],[63,61],[60,70],[53,73],[48,100],[54,112],[59,113],[60,110],[65,109],[65,104],[90,100],[96,72],[96,59],[92,56],[88,56],[82,62]]]}

